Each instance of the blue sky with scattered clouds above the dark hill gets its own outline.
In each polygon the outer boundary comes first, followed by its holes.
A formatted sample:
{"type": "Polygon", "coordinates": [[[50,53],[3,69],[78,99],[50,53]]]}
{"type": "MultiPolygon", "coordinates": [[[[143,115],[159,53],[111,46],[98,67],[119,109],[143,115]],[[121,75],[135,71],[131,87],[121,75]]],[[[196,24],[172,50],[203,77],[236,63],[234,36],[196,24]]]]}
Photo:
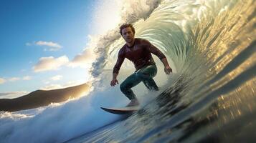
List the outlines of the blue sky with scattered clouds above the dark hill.
{"type": "Polygon", "coordinates": [[[0,0],[0,98],[87,82],[98,3],[0,0]]]}

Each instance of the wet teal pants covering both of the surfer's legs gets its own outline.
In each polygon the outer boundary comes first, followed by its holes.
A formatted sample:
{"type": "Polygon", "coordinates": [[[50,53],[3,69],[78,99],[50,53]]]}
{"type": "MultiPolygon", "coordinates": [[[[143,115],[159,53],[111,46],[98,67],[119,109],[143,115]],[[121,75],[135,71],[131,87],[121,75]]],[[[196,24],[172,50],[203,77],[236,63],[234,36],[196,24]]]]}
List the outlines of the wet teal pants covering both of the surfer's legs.
{"type": "Polygon", "coordinates": [[[144,66],[143,68],[135,71],[131,76],[127,77],[125,81],[120,84],[120,90],[125,94],[128,99],[134,99],[136,95],[133,93],[132,87],[135,87],[140,82],[143,82],[145,86],[150,90],[158,90],[156,82],[153,77],[156,76],[157,68],[156,64],[144,66]]]}

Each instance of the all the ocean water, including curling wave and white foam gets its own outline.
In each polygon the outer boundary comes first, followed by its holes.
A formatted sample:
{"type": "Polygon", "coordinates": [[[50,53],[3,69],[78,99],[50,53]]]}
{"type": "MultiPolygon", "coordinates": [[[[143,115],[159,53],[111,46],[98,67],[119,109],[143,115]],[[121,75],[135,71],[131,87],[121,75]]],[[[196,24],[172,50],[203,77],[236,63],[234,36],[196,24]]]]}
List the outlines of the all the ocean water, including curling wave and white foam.
{"type": "MultiPolygon", "coordinates": [[[[154,56],[160,91],[148,92],[143,84],[133,88],[141,109],[130,117],[100,109],[128,103],[118,87],[109,85],[124,44],[115,29],[95,46],[89,94],[1,112],[1,142],[255,142],[255,7],[253,0],[130,1],[123,21],[161,49],[174,69],[165,75],[154,56]]],[[[126,60],[119,82],[133,71],[126,60]]]]}

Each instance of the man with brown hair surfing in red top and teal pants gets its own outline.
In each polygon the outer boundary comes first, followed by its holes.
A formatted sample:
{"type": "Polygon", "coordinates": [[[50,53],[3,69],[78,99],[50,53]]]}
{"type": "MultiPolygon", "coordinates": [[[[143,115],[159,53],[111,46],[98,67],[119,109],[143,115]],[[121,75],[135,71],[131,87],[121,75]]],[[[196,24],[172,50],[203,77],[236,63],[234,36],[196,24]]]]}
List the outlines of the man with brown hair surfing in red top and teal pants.
{"type": "Polygon", "coordinates": [[[156,76],[157,69],[151,53],[155,54],[159,59],[161,59],[166,74],[170,74],[172,69],[168,64],[166,56],[159,49],[157,49],[156,46],[153,46],[153,44],[146,39],[134,38],[135,30],[132,24],[123,24],[120,26],[120,34],[123,36],[126,44],[118,53],[118,60],[113,68],[113,79],[110,85],[113,87],[115,84],[118,84],[118,72],[120,66],[123,64],[123,60],[127,58],[132,61],[136,71],[125,79],[122,84],[120,84],[121,92],[123,92],[123,94],[125,94],[125,96],[131,100],[127,107],[131,107],[139,104],[136,95],[131,90],[132,87],[135,87],[140,82],[143,82],[148,89],[156,91],[158,90],[156,82],[153,80],[153,77],[156,76]]]}

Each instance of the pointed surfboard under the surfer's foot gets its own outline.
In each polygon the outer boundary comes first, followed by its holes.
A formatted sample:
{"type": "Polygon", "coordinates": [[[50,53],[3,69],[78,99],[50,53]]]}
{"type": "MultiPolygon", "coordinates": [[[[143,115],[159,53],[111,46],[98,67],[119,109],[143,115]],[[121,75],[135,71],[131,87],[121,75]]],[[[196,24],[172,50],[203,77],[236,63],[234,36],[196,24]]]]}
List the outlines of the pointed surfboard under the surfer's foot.
{"type": "Polygon", "coordinates": [[[100,107],[106,112],[110,112],[113,114],[131,114],[133,112],[138,111],[139,106],[136,107],[123,107],[123,108],[105,108],[105,107],[100,107]]]}

